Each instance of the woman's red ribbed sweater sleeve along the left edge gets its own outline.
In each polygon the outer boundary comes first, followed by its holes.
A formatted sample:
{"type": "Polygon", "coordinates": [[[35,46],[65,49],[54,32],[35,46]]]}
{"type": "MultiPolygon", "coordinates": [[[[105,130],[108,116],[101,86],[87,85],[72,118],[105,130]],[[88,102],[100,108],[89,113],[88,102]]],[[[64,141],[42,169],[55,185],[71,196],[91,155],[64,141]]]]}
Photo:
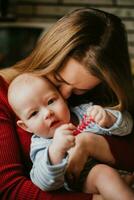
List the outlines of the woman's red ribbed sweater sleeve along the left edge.
{"type": "Polygon", "coordinates": [[[24,171],[19,140],[10,117],[9,111],[0,105],[1,199],[35,200],[38,198],[39,190],[32,184],[24,171]]]}

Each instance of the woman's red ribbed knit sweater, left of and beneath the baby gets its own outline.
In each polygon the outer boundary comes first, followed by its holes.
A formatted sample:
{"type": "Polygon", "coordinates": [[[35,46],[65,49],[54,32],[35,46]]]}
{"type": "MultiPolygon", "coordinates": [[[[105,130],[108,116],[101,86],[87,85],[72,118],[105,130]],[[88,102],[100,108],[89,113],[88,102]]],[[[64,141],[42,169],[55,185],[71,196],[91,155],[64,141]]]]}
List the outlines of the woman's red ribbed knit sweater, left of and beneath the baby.
{"type": "Polygon", "coordinates": [[[16,126],[7,102],[8,84],[0,77],[0,199],[90,200],[90,195],[65,191],[43,192],[29,178],[31,134],[16,126]]]}

